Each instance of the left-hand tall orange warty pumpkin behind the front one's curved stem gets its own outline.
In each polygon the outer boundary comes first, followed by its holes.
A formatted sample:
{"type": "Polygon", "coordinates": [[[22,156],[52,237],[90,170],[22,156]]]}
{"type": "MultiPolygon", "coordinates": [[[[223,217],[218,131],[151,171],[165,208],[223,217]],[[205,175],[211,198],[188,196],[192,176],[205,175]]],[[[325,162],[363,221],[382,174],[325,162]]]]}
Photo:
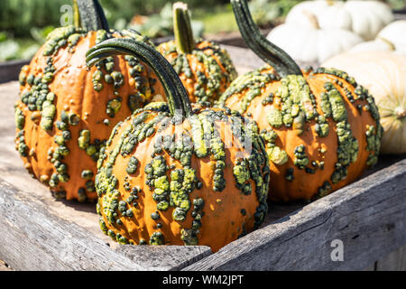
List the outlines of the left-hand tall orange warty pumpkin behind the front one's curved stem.
{"type": "Polygon", "coordinates": [[[112,127],[151,100],[156,79],[129,56],[88,70],[85,54],[95,43],[146,40],[134,31],[109,30],[97,0],[78,0],[75,7],[76,25],[52,31],[21,70],[15,145],[25,168],[56,198],[84,201],[97,198],[98,152],[112,127]]]}

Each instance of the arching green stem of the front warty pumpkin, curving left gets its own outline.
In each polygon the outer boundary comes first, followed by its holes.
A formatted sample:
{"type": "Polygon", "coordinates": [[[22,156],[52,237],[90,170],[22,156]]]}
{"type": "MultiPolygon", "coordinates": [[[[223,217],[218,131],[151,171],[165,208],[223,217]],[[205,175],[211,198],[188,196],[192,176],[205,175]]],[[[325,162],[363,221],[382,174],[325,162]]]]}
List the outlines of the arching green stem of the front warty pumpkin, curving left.
{"type": "Polygon", "coordinates": [[[149,65],[160,79],[165,89],[171,115],[175,116],[181,111],[183,117],[192,114],[188,92],[183,86],[178,74],[158,51],[143,42],[132,39],[119,38],[100,42],[86,54],[88,67],[113,54],[130,54],[149,65]]]}

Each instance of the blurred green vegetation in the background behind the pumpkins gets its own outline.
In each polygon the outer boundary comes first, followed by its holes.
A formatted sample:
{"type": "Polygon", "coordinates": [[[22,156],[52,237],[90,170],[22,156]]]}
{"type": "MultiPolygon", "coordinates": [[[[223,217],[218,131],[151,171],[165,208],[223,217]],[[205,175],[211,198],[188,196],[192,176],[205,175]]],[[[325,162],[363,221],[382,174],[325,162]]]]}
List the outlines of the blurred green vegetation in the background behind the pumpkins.
{"type": "MultiPolygon", "coordinates": [[[[132,27],[150,37],[171,35],[175,0],[99,0],[112,27],[132,27]],[[134,18],[134,15],[143,17],[134,18]]],[[[254,19],[263,28],[280,23],[301,0],[251,0],[254,19]]],[[[183,0],[192,12],[196,34],[236,31],[229,0],[183,0]]],[[[406,0],[387,0],[404,9],[406,0]]],[[[60,26],[60,7],[71,0],[0,0],[0,61],[29,59],[47,33],[60,26]]]]}

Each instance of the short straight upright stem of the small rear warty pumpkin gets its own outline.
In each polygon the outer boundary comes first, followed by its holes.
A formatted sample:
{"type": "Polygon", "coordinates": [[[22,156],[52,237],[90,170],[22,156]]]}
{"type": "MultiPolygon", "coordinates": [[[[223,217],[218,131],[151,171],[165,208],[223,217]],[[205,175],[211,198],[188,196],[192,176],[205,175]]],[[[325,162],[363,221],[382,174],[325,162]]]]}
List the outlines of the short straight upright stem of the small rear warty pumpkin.
{"type": "Polygon", "coordinates": [[[191,53],[195,40],[190,24],[188,5],[182,2],[173,4],[173,33],[178,51],[191,53]]]}

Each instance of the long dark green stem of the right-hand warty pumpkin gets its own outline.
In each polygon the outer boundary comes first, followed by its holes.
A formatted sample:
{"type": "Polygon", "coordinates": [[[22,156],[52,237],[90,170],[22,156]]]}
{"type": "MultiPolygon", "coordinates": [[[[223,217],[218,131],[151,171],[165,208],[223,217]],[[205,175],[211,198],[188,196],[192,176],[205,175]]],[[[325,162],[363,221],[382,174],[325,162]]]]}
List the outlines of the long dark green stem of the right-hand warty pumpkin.
{"type": "Polygon", "coordinates": [[[246,44],[281,76],[302,75],[295,61],[285,51],[269,42],[255,25],[246,0],[231,0],[235,20],[246,44]]]}

